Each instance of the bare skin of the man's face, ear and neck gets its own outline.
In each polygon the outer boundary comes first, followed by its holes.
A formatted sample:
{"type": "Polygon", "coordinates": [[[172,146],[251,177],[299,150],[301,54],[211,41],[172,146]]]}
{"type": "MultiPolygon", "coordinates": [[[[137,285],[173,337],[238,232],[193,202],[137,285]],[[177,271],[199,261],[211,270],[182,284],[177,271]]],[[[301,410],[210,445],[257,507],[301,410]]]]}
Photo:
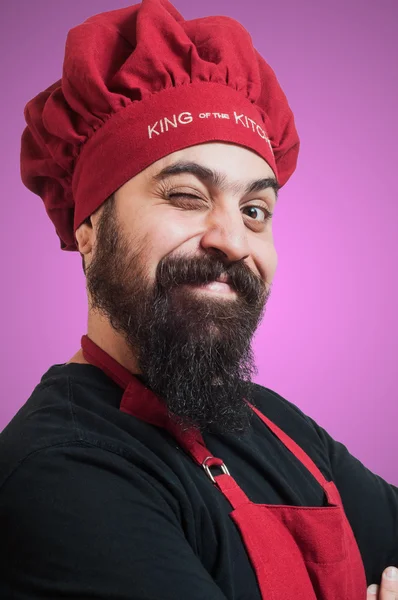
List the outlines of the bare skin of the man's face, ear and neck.
{"type": "MultiPolygon", "coordinates": [[[[156,266],[167,255],[177,252],[194,255],[199,250],[216,249],[230,261],[243,260],[269,289],[277,267],[272,219],[265,225],[250,223],[249,217],[242,216],[242,204],[268,206],[273,212],[275,192],[268,189],[244,197],[237,190],[222,192],[211,189],[192,175],[179,175],[170,180],[176,191],[199,192],[214,199],[208,208],[199,208],[198,204],[197,210],[181,210],[181,204],[165,201],[159,185],[153,182],[157,173],[179,159],[221,171],[231,185],[274,177],[269,165],[251,150],[232,144],[207,143],[169,154],[121,186],[115,193],[118,218],[131,239],[146,240],[150,248],[147,254],[150,279],[154,279],[156,266]],[[162,228],[159,228],[160,223],[164,225],[162,228]]],[[[92,215],[92,227],[83,224],[75,232],[86,267],[95,252],[101,212],[100,207],[92,215]]],[[[112,328],[107,318],[90,308],[89,294],[88,301],[88,336],[132,373],[140,373],[137,358],[123,336],[112,328]]],[[[85,364],[82,350],[68,362],[85,364]]]]}

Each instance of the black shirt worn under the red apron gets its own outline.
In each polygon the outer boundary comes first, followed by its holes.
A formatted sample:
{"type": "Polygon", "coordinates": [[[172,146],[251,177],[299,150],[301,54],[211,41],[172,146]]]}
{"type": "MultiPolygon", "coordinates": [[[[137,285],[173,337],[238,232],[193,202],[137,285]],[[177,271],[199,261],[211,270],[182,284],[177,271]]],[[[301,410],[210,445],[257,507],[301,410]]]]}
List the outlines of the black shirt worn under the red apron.
{"type": "MultiPolygon", "coordinates": [[[[97,367],[54,365],[0,434],[0,598],[260,600],[227,499],[122,394],[97,367]]],[[[272,390],[253,384],[252,402],[336,483],[379,583],[398,566],[398,488],[272,390]]],[[[324,505],[256,415],[243,436],[203,437],[251,501],[324,505]]]]}

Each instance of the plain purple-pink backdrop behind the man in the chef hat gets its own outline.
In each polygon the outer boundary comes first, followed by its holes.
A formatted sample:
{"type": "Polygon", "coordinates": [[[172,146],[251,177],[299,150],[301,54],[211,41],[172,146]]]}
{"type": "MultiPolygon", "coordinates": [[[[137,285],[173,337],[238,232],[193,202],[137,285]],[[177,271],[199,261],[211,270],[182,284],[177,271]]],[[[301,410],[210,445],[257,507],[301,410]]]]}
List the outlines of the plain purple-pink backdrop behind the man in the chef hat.
{"type": "MultiPolygon", "coordinates": [[[[0,429],[86,332],[78,253],[65,253],[19,176],[23,108],[61,74],[67,31],[123,0],[9,0],[1,27],[0,429]]],[[[296,116],[302,149],[274,218],[279,266],[257,381],[398,485],[396,0],[175,0],[252,34],[296,116]]]]}

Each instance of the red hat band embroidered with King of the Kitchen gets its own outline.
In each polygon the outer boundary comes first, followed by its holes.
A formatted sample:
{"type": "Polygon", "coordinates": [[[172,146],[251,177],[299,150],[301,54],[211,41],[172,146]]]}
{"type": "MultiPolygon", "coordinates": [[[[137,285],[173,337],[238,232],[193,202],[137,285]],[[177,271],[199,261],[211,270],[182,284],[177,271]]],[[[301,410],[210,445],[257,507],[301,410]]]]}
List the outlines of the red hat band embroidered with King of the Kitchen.
{"type": "Polygon", "coordinates": [[[113,192],[157,160],[211,141],[257,152],[278,177],[260,112],[226,85],[180,85],[122,107],[92,134],[77,159],[74,231],[113,192]]]}

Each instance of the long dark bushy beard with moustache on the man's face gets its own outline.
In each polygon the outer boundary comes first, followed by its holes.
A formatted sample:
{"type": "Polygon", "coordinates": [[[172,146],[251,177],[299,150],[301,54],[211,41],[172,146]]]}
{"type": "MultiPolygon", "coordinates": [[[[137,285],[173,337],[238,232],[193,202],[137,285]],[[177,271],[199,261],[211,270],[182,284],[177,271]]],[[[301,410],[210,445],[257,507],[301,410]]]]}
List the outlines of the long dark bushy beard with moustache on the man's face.
{"type": "Polygon", "coordinates": [[[251,341],[270,290],[243,262],[210,254],[166,257],[150,282],[147,255],[145,246],[131,250],[106,206],[86,271],[92,308],[123,334],[146,384],[183,427],[244,433],[252,415],[245,400],[257,372],[251,341]],[[184,285],[225,273],[235,298],[184,285]]]}

